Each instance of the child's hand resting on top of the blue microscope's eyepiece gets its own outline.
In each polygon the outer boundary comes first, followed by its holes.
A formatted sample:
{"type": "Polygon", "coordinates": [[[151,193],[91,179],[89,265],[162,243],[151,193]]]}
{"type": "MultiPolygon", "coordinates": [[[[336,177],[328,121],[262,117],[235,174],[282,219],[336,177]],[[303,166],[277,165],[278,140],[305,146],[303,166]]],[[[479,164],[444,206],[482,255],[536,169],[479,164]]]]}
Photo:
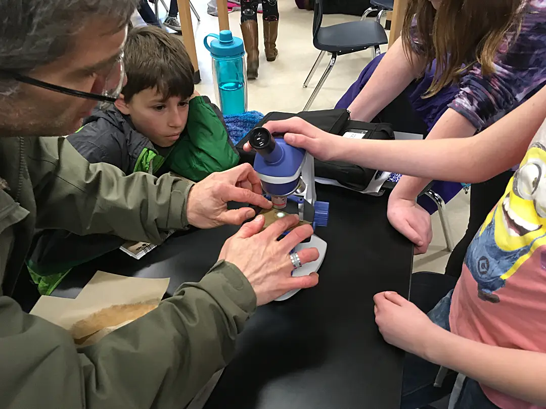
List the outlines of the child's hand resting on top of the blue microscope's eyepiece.
{"type": "MultiPolygon", "coordinates": [[[[271,134],[284,134],[284,141],[296,148],[304,148],[319,160],[335,160],[342,149],[343,138],[329,134],[301,118],[294,117],[284,121],[270,121],[264,125],[271,134]]],[[[250,152],[250,143],[245,143],[245,151],[250,152]]]]}

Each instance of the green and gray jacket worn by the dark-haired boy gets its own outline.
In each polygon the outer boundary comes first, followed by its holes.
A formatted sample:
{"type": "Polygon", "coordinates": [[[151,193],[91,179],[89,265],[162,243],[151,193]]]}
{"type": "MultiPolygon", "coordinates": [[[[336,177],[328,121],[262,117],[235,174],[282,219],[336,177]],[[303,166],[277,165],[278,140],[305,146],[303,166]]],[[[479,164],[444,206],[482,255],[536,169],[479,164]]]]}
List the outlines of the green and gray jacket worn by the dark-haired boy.
{"type": "MultiPolygon", "coordinates": [[[[130,117],[112,107],[94,111],[84,126],[67,139],[90,163],[109,163],[126,175],[141,171],[158,176],[173,171],[198,182],[239,161],[222,119],[209,98],[192,98],[180,139],[170,148],[159,148],[134,129],[130,117]]],[[[113,234],[78,236],[64,230],[46,230],[36,235],[27,267],[40,293],[49,295],[71,268],[115,250],[124,242],[113,234]]]]}

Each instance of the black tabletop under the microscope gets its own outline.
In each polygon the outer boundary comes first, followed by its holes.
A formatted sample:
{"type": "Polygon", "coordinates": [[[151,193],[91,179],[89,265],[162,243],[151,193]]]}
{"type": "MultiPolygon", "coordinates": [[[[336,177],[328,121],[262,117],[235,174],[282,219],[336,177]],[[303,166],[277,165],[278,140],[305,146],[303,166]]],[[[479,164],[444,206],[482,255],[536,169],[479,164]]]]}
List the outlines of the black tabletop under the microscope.
{"type": "MultiPolygon", "coordinates": [[[[408,296],[412,245],[390,226],[387,196],[323,185],[317,194],[330,202],[328,227],[316,231],[328,243],[318,286],[258,309],[205,409],[400,407],[403,353],[381,338],[372,297],[408,296]]],[[[170,277],[172,294],[199,280],[236,230],[179,233],[141,260],[111,252],[75,269],[53,295],[75,297],[97,269],[170,277]]]]}

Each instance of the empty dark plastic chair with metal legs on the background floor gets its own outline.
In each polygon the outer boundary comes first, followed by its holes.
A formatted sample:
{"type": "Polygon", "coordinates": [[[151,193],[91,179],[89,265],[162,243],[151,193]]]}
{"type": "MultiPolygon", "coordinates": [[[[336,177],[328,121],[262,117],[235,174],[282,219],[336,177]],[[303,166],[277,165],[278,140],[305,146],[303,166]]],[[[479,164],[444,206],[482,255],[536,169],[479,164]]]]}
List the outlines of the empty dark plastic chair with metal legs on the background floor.
{"type": "Polygon", "coordinates": [[[330,71],[334,68],[337,56],[366,50],[369,47],[373,47],[375,50],[374,55],[378,56],[381,53],[379,45],[388,43],[387,34],[385,34],[383,27],[377,21],[351,21],[335,24],[333,26],[321,27],[323,1],[324,0],[316,0],[314,2],[313,17],[313,45],[317,50],[321,50],[321,53],[318,55],[317,61],[314,62],[309,75],[307,75],[307,79],[304,82],[304,88],[307,88],[309,85],[309,81],[311,81],[311,77],[313,76],[314,71],[317,70],[318,64],[321,63],[324,54],[329,52],[331,58],[328,67],[318,81],[307,104],[305,104],[304,111],[308,111],[311,108],[314,99],[317,98],[317,94],[321,91],[328,75],[330,75],[330,71]]]}

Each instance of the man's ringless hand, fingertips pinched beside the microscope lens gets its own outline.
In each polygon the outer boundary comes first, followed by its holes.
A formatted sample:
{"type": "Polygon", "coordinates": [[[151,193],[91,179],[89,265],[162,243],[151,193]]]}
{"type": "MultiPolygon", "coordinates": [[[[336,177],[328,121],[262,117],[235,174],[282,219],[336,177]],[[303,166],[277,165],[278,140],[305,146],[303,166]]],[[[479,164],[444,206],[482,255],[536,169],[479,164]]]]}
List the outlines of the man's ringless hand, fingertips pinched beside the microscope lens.
{"type": "Polygon", "coordinates": [[[228,210],[228,202],[249,203],[264,209],[271,202],[262,196],[262,183],[250,164],[212,173],[189,191],[187,218],[200,228],[238,225],[256,215],[250,207],[228,210]]]}

